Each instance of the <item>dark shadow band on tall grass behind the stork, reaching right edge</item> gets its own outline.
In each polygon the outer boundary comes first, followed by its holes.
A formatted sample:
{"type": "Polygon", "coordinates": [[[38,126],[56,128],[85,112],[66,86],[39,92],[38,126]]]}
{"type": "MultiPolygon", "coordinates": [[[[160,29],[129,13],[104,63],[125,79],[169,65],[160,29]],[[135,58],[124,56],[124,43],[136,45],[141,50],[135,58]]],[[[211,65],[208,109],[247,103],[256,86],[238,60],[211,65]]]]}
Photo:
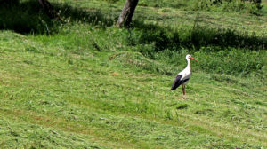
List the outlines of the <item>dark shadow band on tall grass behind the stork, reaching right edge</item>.
{"type": "Polygon", "coordinates": [[[128,43],[131,45],[154,44],[154,51],[166,49],[179,51],[182,48],[198,51],[207,46],[219,47],[216,48],[217,50],[233,47],[257,51],[267,48],[266,35],[240,33],[232,29],[203,27],[197,24],[187,30],[175,31],[170,27],[145,24],[140,20],[135,20],[132,26],[138,28],[139,35],[130,34],[128,43]]]}

